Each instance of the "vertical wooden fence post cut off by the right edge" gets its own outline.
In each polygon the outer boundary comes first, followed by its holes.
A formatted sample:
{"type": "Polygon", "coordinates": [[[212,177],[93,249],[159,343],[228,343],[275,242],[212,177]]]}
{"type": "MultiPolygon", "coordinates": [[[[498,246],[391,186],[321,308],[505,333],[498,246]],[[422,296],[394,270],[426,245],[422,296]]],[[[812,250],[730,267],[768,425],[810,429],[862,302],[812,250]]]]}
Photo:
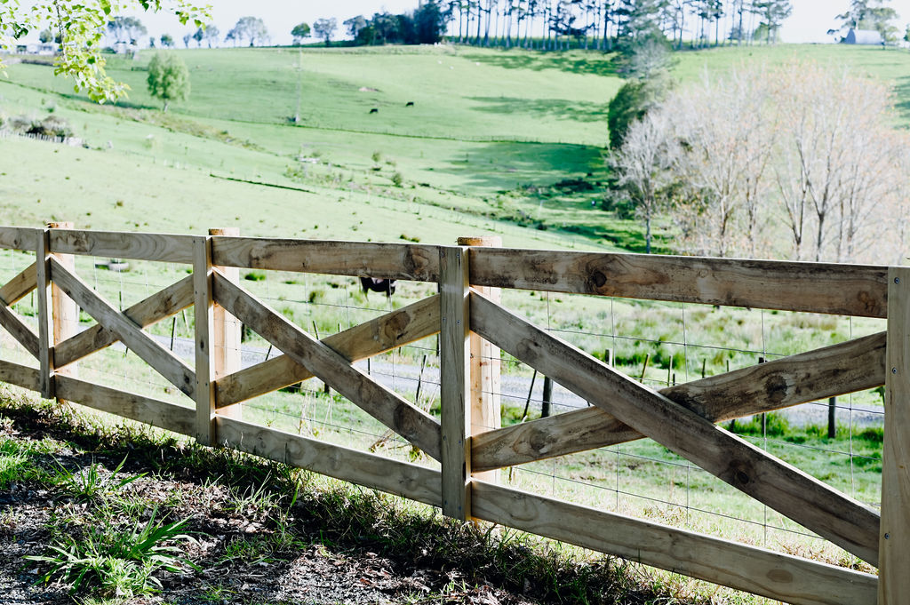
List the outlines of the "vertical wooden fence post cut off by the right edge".
{"type": "Polygon", "coordinates": [[[878,604],[910,594],[910,267],[888,268],[878,604]]]}

